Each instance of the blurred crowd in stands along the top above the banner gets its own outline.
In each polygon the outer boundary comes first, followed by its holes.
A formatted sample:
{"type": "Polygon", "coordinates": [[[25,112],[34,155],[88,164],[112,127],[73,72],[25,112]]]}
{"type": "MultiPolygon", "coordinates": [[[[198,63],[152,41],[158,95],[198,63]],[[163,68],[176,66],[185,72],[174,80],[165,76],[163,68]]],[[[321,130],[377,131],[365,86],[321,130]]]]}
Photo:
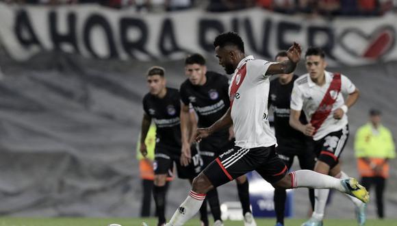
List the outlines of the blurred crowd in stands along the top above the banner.
{"type": "Polygon", "coordinates": [[[0,0],[8,3],[75,4],[99,3],[112,8],[135,8],[140,12],[164,12],[204,8],[228,12],[260,7],[285,14],[322,16],[379,16],[396,12],[397,0],[0,0]]]}

